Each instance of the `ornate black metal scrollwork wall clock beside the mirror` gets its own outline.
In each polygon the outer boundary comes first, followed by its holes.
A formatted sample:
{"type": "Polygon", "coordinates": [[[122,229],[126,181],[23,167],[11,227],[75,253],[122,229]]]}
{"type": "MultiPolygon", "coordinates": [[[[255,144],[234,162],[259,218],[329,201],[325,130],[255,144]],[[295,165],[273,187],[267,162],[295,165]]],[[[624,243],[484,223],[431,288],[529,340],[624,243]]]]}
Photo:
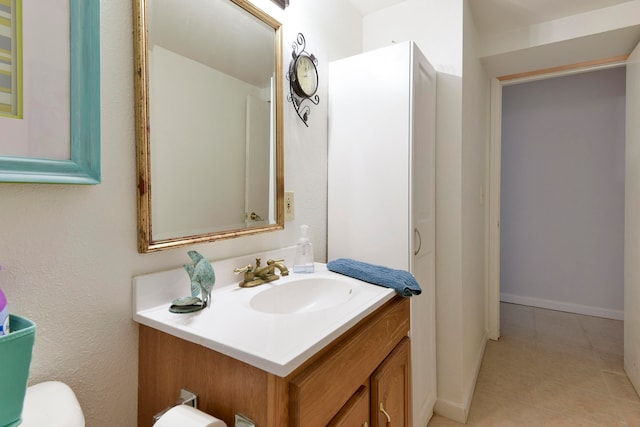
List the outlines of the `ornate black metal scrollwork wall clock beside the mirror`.
{"type": "Polygon", "coordinates": [[[307,120],[311,114],[311,107],[306,102],[313,105],[320,103],[318,91],[318,59],[306,51],[306,41],[302,33],[298,33],[296,41],[292,45],[293,59],[289,64],[289,91],[287,100],[293,104],[293,108],[302,119],[305,126],[309,127],[307,120]]]}

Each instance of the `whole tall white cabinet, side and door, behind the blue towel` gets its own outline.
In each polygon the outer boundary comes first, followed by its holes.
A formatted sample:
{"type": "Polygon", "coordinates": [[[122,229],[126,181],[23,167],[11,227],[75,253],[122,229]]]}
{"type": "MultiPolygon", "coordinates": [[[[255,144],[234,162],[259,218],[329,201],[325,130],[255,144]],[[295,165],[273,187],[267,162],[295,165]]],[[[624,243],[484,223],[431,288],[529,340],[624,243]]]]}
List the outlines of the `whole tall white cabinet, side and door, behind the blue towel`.
{"type": "Polygon", "coordinates": [[[436,72],[413,42],[329,66],[328,259],[408,270],[413,425],[436,400],[436,72]]]}

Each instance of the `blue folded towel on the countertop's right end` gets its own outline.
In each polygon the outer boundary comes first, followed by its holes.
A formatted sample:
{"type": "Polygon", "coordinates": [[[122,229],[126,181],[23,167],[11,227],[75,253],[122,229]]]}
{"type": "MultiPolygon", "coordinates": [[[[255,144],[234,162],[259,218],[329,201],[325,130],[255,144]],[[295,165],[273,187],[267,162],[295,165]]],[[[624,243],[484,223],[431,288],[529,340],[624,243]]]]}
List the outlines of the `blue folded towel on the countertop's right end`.
{"type": "Polygon", "coordinates": [[[420,295],[422,293],[422,289],[416,281],[416,278],[413,277],[413,274],[405,270],[395,270],[393,268],[348,258],[338,258],[329,261],[327,268],[330,271],[344,274],[354,279],[394,289],[403,297],[420,295]]]}

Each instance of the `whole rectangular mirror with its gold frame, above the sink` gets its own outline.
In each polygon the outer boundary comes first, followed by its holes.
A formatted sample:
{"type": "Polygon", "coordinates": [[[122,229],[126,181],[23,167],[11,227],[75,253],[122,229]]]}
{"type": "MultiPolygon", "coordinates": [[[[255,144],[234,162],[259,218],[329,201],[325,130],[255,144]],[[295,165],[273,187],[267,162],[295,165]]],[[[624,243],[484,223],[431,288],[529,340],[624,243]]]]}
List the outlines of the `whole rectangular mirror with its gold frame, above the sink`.
{"type": "Polygon", "coordinates": [[[281,24],[244,0],[134,0],[138,249],[284,226],[281,24]]]}

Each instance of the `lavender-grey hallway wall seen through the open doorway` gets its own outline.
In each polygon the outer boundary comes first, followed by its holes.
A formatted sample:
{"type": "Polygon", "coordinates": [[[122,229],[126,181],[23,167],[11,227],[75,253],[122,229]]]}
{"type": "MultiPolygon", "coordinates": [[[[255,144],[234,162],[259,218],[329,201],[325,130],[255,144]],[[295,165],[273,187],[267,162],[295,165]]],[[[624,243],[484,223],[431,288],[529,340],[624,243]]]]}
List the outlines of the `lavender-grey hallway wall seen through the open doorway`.
{"type": "Polygon", "coordinates": [[[625,68],[502,89],[502,299],[622,319],[625,68]]]}

